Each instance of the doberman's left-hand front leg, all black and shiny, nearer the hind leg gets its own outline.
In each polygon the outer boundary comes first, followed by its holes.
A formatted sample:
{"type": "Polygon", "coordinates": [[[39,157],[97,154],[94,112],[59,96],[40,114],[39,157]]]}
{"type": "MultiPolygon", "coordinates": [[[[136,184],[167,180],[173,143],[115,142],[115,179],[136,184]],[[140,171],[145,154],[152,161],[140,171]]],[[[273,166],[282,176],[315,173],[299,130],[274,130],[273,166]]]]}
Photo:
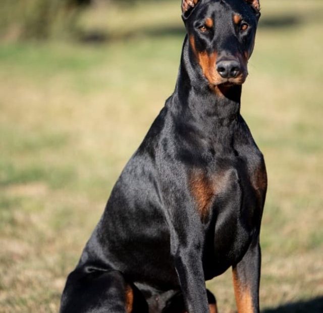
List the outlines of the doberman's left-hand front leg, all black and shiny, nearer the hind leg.
{"type": "Polygon", "coordinates": [[[202,238],[199,238],[196,229],[189,229],[172,232],[172,254],[186,309],[189,313],[207,313],[209,306],[202,267],[202,238]]]}

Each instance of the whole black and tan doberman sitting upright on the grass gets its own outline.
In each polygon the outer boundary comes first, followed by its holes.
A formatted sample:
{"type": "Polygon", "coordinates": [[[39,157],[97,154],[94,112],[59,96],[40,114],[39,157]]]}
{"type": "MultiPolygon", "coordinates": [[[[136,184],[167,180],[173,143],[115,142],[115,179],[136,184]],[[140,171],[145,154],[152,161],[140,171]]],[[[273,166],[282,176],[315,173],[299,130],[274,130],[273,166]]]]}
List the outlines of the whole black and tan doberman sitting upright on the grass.
{"type": "Polygon", "coordinates": [[[229,267],[239,313],[259,312],[267,179],[240,115],[259,16],[258,0],[183,0],[175,91],[114,186],[62,313],[216,312],[205,280],[229,267]]]}

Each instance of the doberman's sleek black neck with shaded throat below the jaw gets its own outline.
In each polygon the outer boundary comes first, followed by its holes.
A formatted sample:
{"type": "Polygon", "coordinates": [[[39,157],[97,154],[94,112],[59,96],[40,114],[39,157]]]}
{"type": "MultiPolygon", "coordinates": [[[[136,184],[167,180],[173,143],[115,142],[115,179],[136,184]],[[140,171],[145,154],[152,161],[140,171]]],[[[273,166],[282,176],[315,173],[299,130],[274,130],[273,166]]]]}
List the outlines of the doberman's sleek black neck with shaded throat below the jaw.
{"type": "Polygon", "coordinates": [[[213,125],[236,121],[240,116],[241,85],[210,87],[193,58],[189,53],[186,36],[173,94],[179,114],[191,115],[195,121],[198,119],[213,125]]]}

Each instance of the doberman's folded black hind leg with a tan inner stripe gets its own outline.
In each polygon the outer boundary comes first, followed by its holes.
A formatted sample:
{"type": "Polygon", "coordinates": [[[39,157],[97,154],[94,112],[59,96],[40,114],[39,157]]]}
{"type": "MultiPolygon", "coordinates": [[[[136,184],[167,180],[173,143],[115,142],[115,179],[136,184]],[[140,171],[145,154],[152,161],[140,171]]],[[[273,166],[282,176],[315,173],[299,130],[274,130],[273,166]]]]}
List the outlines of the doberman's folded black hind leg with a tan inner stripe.
{"type": "Polygon", "coordinates": [[[148,313],[148,305],[122,273],[82,267],[67,279],[60,312],[148,313]]]}

